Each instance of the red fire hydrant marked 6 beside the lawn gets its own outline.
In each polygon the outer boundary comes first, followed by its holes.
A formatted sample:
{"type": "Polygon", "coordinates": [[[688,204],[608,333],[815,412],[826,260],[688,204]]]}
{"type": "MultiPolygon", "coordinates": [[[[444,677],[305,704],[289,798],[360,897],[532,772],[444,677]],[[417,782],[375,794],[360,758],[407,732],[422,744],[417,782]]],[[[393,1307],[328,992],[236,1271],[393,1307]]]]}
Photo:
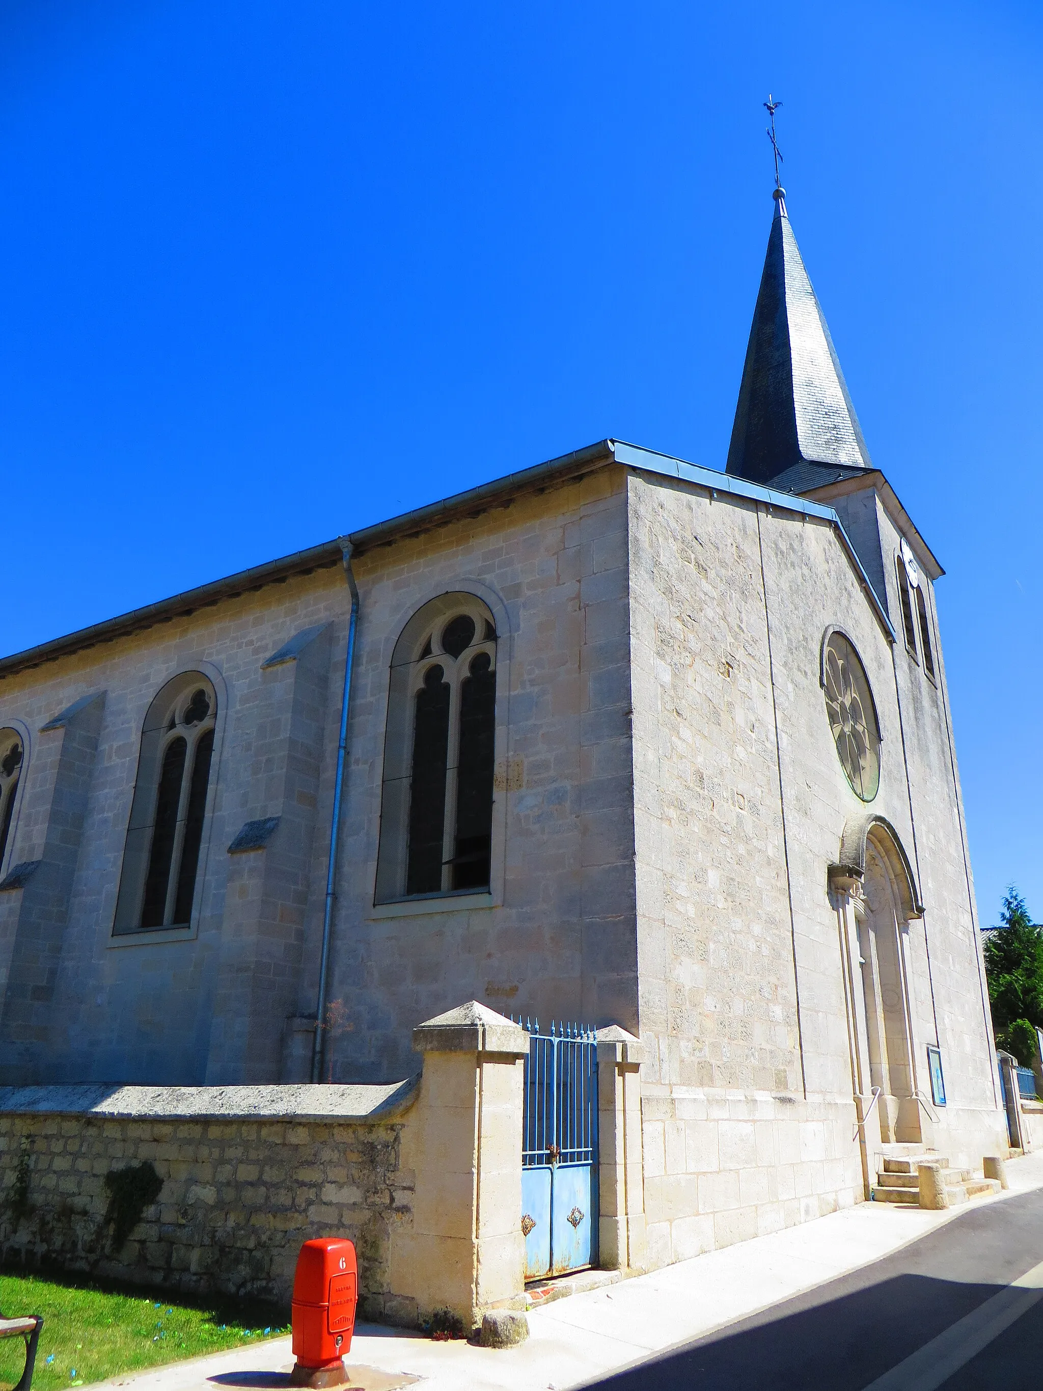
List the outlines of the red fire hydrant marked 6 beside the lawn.
{"type": "Polygon", "coordinates": [[[293,1385],[335,1387],[348,1380],[342,1358],[352,1345],[357,1302],[352,1242],[341,1237],[306,1241],[293,1276],[293,1385]]]}

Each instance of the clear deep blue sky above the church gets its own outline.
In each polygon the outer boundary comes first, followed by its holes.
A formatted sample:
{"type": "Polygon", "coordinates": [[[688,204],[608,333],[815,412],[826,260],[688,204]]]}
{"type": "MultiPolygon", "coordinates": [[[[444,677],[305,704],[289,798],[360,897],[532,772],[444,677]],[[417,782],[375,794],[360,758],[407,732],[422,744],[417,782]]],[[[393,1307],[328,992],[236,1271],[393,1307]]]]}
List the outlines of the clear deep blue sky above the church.
{"type": "Polygon", "coordinates": [[[789,209],[1043,918],[1039,4],[0,10],[0,647],[605,435],[723,467],[789,209]]]}

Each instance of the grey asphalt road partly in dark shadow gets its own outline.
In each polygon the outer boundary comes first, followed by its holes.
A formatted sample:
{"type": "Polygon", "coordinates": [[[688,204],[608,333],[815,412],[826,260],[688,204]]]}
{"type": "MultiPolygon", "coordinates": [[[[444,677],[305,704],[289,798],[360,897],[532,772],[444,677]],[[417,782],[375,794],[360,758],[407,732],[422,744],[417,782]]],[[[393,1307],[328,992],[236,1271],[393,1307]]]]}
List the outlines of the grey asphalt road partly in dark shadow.
{"type": "Polygon", "coordinates": [[[594,1387],[1040,1391],[1043,1191],[972,1205],[872,1266],[594,1387]]]}

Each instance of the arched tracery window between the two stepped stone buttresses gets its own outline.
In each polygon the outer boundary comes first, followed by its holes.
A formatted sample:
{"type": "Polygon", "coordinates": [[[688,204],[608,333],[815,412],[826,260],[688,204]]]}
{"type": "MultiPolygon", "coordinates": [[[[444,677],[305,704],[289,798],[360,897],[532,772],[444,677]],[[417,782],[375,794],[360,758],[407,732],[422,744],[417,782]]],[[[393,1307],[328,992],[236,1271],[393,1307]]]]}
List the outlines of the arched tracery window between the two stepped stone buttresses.
{"type": "Polygon", "coordinates": [[[217,696],[199,672],[167,682],[142,730],[115,935],[186,928],[203,844],[217,696]]]}

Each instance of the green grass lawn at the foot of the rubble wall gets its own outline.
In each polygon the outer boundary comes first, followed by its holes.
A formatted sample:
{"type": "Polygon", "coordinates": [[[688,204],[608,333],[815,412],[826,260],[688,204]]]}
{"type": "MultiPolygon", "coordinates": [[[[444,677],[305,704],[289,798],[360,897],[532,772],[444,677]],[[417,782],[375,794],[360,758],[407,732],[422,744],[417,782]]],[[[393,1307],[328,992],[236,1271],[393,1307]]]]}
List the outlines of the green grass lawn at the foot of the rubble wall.
{"type": "MultiPolygon", "coordinates": [[[[277,1326],[280,1316],[270,1306],[249,1301],[186,1305],[154,1294],[3,1273],[0,1312],[7,1319],[43,1314],[33,1391],[102,1381],[289,1333],[289,1324],[277,1326]]],[[[0,1341],[3,1391],[22,1374],[24,1349],[21,1338],[0,1341]]]]}

